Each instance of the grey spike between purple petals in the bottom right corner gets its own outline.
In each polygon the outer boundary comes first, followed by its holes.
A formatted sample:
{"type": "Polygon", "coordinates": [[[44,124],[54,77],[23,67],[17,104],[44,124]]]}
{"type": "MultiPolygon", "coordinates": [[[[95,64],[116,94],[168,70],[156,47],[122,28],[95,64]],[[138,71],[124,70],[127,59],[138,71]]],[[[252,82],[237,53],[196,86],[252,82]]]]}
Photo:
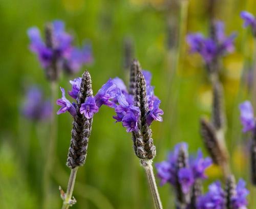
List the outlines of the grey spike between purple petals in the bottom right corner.
{"type": "Polygon", "coordinates": [[[236,180],[233,175],[229,175],[226,179],[226,208],[234,209],[232,207],[232,198],[236,196],[236,180]]]}

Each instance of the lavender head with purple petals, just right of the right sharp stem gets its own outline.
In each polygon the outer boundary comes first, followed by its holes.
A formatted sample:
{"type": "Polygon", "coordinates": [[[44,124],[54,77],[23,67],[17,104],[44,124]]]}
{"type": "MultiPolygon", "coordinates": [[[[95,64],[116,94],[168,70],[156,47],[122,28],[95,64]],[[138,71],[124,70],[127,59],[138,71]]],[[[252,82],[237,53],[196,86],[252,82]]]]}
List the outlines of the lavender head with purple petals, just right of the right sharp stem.
{"type": "Polygon", "coordinates": [[[170,183],[176,194],[176,208],[196,208],[201,194],[201,181],[206,178],[205,169],[211,165],[209,157],[203,158],[201,150],[197,156],[188,155],[186,143],[177,144],[167,160],[156,164],[160,184],[170,183]]]}

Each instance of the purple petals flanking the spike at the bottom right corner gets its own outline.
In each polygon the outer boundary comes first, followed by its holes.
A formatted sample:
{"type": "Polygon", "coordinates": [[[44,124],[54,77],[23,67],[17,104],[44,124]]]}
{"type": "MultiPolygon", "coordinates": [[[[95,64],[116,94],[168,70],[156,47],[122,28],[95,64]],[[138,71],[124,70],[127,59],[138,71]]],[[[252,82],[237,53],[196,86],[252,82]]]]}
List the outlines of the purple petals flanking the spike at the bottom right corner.
{"type": "MultiPolygon", "coordinates": [[[[246,197],[249,191],[245,188],[245,181],[240,179],[236,185],[234,194],[230,199],[232,209],[246,209],[248,204],[246,197]]],[[[198,198],[197,209],[225,209],[226,195],[221,188],[220,181],[216,181],[209,185],[209,191],[198,198]]]]}

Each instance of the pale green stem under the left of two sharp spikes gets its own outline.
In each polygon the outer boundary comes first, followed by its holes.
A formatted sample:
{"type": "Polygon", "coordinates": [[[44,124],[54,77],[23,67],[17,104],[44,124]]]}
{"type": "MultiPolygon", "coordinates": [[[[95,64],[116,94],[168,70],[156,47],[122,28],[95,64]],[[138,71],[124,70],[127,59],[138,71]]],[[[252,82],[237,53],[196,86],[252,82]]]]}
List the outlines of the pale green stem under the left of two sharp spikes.
{"type": "Polygon", "coordinates": [[[74,185],[76,181],[76,173],[77,173],[78,167],[71,169],[70,177],[69,177],[69,183],[68,183],[68,189],[65,194],[65,199],[63,201],[63,205],[61,209],[68,209],[72,204],[76,202],[76,200],[73,198],[73,191],[74,191],[74,185]]]}

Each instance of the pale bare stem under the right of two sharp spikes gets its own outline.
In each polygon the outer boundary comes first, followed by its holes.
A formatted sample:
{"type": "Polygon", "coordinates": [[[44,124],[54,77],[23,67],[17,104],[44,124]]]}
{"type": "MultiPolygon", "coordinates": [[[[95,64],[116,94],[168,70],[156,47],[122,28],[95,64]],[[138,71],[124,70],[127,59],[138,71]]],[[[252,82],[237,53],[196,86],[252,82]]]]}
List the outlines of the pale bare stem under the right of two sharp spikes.
{"type": "Polygon", "coordinates": [[[147,182],[148,182],[148,185],[150,186],[155,209],[162,209],[163,206],[162,206],[162,202],[157,189],[156,179],[155,179],[153,167],[152,167],[152,160],[148,160],[148,161],[143,160],[141,161],[141,165],[143,166],[146,172],[147,182]]]}

